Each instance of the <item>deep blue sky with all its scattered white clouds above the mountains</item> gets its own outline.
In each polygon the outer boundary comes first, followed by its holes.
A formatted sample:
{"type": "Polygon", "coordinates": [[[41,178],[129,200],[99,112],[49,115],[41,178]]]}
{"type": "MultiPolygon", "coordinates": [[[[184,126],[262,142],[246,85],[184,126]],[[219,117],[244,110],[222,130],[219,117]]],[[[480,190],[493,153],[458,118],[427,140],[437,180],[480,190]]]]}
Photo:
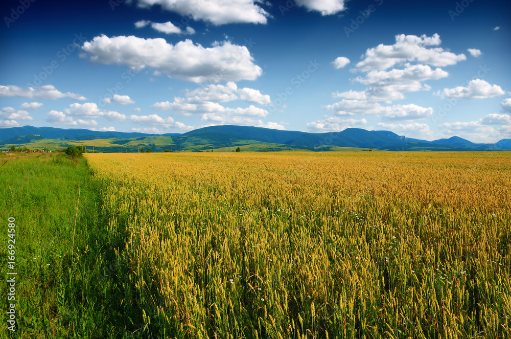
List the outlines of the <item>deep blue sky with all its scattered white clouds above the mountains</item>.
{"type": "Polygon", "coordinates": [[[507,0],[18,0],[1,9],[2,128],[511,138],[507,0]]]}

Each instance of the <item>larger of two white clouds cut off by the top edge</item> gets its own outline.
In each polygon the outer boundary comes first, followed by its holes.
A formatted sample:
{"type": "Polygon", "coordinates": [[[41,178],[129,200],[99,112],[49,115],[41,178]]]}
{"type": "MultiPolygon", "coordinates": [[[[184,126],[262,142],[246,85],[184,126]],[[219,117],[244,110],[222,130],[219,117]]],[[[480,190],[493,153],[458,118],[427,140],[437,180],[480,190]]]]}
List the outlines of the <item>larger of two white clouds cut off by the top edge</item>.
{"type": "Polygon", "coordinates": [[[211,22],[216,26],[236,23],[266,24],[270,14],[256,4],[259,2],[258,0],[138,0],[138,6],[147,8],[160,5],[165,10],[192,17],[194,20],[211,22]]]}

